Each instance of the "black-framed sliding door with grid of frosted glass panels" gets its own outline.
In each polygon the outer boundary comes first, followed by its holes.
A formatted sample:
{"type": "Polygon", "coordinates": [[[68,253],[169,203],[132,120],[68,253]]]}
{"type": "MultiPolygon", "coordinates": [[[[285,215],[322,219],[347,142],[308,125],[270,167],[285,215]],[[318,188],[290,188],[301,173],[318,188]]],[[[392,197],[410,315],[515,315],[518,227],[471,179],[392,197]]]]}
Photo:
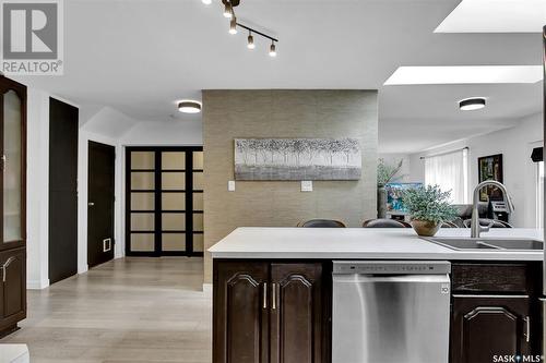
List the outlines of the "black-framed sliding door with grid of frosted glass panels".
{"type": "Polygon", "coordinates": [[[127,255],[203,254],[202,154],[201,147],[127,148],[127,255]]]}

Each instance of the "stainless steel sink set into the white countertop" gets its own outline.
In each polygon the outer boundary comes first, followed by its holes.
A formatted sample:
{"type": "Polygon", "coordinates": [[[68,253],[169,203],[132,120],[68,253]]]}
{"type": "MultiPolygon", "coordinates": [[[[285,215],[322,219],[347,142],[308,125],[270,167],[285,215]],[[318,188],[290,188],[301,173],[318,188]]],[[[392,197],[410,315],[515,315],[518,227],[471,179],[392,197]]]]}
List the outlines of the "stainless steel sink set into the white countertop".
{"type": "Polygon", "coordinates": [[[542,251],[544,243],[531,239],[462,239],[462,238],[425,238],[429,242],[456,251],[488,250],[488,251],[542,251]]]}

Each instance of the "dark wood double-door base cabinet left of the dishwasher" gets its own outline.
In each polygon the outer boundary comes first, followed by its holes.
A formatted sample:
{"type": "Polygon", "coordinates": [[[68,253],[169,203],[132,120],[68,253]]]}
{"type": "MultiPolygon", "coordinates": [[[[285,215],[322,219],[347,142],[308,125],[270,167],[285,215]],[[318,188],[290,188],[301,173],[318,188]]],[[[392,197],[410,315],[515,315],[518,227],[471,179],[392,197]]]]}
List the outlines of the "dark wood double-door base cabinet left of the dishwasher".
{"type": "Polygon", "coordinates": [[[214,363],[321,363],[321,263],[214,262],[214,363]]]}

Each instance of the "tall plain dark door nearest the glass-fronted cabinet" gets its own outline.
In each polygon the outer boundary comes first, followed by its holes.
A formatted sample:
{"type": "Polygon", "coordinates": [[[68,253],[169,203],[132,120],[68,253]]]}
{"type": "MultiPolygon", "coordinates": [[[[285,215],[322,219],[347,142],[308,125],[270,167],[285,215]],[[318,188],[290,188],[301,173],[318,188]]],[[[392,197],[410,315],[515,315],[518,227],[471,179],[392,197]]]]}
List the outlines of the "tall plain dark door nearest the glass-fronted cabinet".
{"type": "Polygon", "coordinates": [[[49,282],[78,273],[78,108],[49,99],[49,282]]]}

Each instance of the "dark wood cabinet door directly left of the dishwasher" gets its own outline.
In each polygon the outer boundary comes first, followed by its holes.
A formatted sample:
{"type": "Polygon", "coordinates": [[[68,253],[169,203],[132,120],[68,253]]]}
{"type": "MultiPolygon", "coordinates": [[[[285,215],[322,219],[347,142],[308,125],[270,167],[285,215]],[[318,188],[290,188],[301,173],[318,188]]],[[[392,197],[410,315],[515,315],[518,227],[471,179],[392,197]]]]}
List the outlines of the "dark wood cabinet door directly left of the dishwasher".
{"type": "Polygon", "coordinates": [[[272,264],[271,362],[321,362],[322,265],[272,264]]]}

